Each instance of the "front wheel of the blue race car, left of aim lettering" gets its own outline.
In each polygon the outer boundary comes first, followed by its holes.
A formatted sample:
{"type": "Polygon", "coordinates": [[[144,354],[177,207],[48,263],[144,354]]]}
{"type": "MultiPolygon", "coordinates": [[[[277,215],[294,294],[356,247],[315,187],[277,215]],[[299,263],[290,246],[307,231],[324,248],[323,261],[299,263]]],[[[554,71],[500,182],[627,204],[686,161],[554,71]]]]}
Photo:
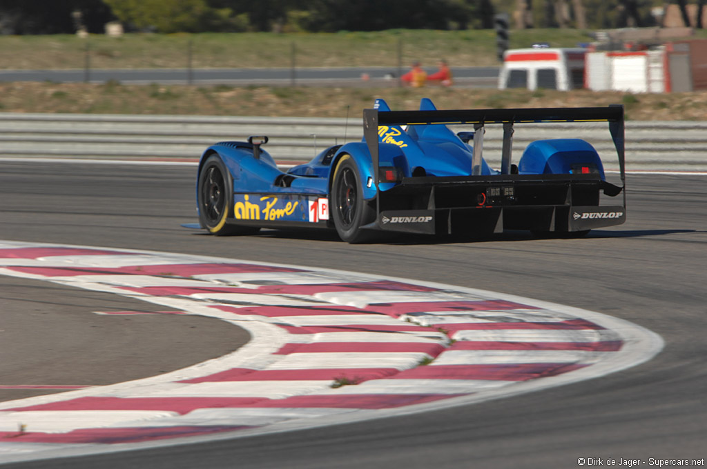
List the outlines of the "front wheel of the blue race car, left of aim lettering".
{"type": "Polygon", "coordinates": [[[233,211],[233,189],[226,165],[218,155],[211,155],[199,172],[197,186],[199,222],[212,235],[250,235],[259,227],[228,225],[228,214],[233,211]]]}

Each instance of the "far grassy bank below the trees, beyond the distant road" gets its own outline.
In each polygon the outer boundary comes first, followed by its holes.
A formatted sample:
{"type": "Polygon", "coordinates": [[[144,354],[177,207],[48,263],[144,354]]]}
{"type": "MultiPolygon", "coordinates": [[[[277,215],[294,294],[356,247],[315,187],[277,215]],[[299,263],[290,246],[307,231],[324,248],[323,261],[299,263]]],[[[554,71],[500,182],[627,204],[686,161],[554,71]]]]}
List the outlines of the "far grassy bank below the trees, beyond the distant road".
{"type": "MultiPolygon", "coordinates": [[[[578,30],[522,30],[510,47],[551,42],[574,47],[589,40],[578,30]]],[[[88,48],[94,69],[152,69],[187,66],[189,47],[195,68],[407,66],[420,60],[434,65],[440,57],[453,66],[498,66],[493,30],[389,30],[334,33],[268,32],[202,34],[129,34],[0,36],[0,69],[83,69],[88,48]]]]}

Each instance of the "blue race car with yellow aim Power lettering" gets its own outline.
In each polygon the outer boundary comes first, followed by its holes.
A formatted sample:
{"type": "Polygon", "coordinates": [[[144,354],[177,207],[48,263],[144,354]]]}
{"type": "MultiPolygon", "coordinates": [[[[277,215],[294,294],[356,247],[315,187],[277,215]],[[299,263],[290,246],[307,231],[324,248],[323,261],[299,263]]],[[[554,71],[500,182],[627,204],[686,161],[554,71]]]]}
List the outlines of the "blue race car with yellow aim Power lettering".
{"type": "Polygon", "coordinates": [[[199,224],[214,235],[261,227],[326,227],[346,242],[382,232],[479,235],[530,230],[580,236],[626,220],[624,108],[363,111],[363,141],[332,146],[283,172],[262,146],[267,136],[216,143],[199,162],[199,224]],[[590,143],[530,143],[512,163],[513,128],[526,122],[607,121],[621,186],[606,181],[590,143]],[[446,124],[473,124],[455,134],[446,124]],[[503,126],[501,168],[482,156],[486,125],[503,126]],[[602,194],[623,201],[600,204],[602,194]]]}

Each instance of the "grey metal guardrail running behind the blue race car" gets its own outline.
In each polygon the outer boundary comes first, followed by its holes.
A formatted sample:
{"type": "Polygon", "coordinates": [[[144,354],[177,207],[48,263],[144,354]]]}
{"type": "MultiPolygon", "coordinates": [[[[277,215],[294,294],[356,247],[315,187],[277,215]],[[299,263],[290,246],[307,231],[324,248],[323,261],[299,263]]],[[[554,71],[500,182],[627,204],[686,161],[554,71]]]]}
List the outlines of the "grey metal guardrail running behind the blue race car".
{"type": "MultiPolygon", "coordinates": [[[[484,158],[500,165],[502,131],[488,126],[484,158]]],[[[472,130],[454,126],[455,130],[472,130]]],[[[0,158],[197,160],[217,141],[267,135],[267,150],[284,163],[309,160],[344,141],[360,141],[361,118],[146,116],[122,114],[0,113],[0,158]]],[[[513,150],[538,138],[584,138],[604,165],[617,169],[606,124],[518,124],[513,150]]],[[[627,121],[629,170],[707,170],[707,122],[627,121]]]]}

